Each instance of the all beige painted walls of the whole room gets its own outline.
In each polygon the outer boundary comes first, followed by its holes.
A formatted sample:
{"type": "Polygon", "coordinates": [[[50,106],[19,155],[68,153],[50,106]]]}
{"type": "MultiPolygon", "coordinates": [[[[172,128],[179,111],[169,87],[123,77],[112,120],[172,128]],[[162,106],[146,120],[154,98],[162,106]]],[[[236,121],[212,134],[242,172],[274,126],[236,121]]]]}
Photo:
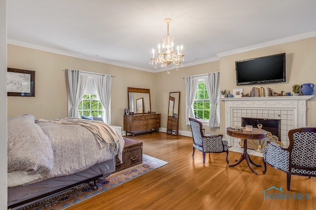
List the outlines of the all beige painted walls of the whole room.
{"type": "MultiPolygon", "coordinates": [[[[220,71],[221,90],[243,88],[249,93],[251,86],[237,86],[235,62],[260,56],[286,53],[286,83],[261,85],[274,91],[292,90],[292,84],[316,83],[316,37],[280,44],[259,50],[222,57],[220,61],[151,73],[132,70],[83,59],[8,45],[8,67],[36,71],[36,97],[8,97],[8,116],[32,113],[36,118],[67,116],[67,88],[64,69],[78,69],[114,75],[111,114],[113,125],[123,125],[123,111],[127,107],[127,87],[151,90],[152,111],[161,113],[161,127],[167,126],[169,92],[180,91],[179,130],[191,132],[185,123],[185,84],[183,77],[220,71]]],[[[255,86],[255,85],[253,85],[255,86]]],[[[316,98],[307,102],[307,126],[315,126],[316,98]]],[[[205,127],[207,133],[225,134],[225,104],[221,102],[221,128],[205,127]]]]}

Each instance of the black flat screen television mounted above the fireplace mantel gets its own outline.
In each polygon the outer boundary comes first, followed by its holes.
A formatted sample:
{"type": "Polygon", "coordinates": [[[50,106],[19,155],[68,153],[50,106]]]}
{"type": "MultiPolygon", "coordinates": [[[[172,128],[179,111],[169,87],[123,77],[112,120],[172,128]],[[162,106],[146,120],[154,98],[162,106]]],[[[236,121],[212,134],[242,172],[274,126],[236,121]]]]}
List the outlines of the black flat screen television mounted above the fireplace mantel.
{"type": "Polygon", "coordinates": [[[285,82],[285,53],[236,61],[237,85],[285,82]]]}

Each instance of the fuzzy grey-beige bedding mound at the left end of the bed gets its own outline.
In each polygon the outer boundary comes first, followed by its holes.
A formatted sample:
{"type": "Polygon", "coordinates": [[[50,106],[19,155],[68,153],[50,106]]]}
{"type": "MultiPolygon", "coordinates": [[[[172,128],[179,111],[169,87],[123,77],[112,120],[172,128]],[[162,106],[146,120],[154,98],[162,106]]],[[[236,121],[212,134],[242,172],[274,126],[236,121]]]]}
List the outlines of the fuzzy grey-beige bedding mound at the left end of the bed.
{"type": "Polygon", "coordinates": [[[31,114],[10,117],[8,131],[8,173],[48,175],[53,168],[53,150],[48,137],[31,114]]]}

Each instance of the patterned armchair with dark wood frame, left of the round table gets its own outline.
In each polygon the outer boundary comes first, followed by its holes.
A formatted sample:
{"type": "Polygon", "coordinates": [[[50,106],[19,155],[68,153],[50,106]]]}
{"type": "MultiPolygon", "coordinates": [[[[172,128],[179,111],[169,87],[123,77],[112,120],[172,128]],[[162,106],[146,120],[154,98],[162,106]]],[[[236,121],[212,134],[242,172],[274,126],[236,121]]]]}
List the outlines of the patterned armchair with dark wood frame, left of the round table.
{"type": "Polygon", "coordinates": [[[193,154],[195,149],[203,154],[203,164],[205,164],[205,153],[221,153],[226,152],[226,162],[228,161],[228,142],[223,140],[222,134],[210,135],[204,134],[202,123],[194,118],[189,118],[192,137],[193,137],[193,154]]]}

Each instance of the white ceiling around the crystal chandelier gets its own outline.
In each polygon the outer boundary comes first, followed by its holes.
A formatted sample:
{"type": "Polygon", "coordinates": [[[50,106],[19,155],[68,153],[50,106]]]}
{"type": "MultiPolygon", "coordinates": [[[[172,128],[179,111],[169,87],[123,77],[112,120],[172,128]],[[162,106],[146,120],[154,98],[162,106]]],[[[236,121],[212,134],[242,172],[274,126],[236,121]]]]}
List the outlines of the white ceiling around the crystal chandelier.
{"type": "Polygon", "coordinates": [[[161,69],[149,59],[166,36],[165,18],[172,19],[175,45],[184,47],[184,66],[316,36],[316,0],[7,0],[7,37],[10,44],[155,72],[161,69]]]}

